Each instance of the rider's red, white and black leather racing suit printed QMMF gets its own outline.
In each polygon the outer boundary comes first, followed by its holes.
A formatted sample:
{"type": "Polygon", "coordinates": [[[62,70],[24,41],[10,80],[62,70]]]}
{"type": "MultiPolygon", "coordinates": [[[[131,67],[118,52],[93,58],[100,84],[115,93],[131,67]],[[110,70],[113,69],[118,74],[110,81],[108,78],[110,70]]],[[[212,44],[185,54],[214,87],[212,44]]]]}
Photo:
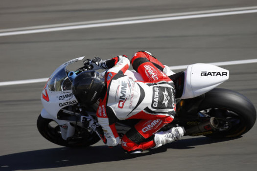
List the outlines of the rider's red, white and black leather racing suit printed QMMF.
{"type": "Polygon", "coordinates": [[[154,133],[172,122],[175,115],[173,82],[162,72],[165,66],[145,51],[132,58],[133,68],[144,81],[133,81],[124,76],[130,61],[124,56],[116,58],[115,66],[105,73],[107,92],[100,99],[96,113],[104,130],[105,143],[108,146],[119,144],[115,117],[119,120],[141,119],[123,136],[121,146],[129,152],[152,148],[156,145],[154,133]]]}

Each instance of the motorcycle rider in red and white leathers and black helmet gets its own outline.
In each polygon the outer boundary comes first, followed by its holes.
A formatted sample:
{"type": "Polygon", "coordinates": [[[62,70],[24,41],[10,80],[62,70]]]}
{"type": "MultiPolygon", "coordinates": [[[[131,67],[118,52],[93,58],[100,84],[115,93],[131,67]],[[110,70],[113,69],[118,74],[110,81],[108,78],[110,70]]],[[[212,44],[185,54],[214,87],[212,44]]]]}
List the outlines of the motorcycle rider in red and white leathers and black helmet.
{"type": "MultiPolygon", "coordinates": [[[[140,119],[121,139],[126,152],[139,153],[173,142],[185,130],[175,127],[157,132],[172,122],[175,115],[175,89],[168,77],[174,73],[146,51],[135,53],[131,63],[144,81],[133,81],[124,75],[130,65],[124,55],[110,60],[95,57],[90,61],[93,70],[83,71],[73,80],[72,92],[81,104],[99,101],[96,116],[104,132],[101,138],[109,147],[119,144],[116,119],[140,119]],[[106,69],[104,76],[97,69],[106,69]]],[[[82,116],[81,122],[87,128],[98,126],[88,116],[82,116]]]]}

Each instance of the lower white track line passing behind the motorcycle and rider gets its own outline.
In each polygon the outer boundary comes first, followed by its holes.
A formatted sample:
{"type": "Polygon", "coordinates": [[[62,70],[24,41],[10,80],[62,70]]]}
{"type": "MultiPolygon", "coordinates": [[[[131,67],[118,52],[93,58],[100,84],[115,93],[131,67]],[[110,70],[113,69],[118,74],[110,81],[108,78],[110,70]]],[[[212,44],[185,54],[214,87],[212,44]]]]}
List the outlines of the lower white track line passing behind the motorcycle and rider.
{"type": "MultiPolygon", "coordinates": [[[[234,64],[251,64],[257,63],[257,59],[251,60],[240,60],[240,61],[228,61],[228,62],[218,62],[218,63],[208,63],[213,64],[216,66],[223,66],[223,65],[234,65],[234,64]]],[[[178,65],[178,66],[169,66],[171,70],[177,69],[186,69],[188,65],[178,65]]],[[[9,82],[0,82],[0,86],[3,85],[21,85],[21,84],[30,84],[30,83],[41,83],[47,82],[48,78],[40,78],[40,79],[31,79],[31,80],[19,80],[19,81],[9,81],[9,82]]]]}

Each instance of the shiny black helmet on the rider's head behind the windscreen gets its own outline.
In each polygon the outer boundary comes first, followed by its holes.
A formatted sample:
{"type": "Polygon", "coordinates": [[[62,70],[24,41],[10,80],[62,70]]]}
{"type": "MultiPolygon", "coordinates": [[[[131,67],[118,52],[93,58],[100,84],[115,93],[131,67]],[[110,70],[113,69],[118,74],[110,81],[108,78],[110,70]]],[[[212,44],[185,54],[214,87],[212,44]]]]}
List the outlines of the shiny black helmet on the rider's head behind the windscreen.
{"type": "Polygon", "coordinates": [[[83,71],[72,82],[72,93],[79,103],[92,105],[104,89],[104,77],[94,70],[83,71]]]}

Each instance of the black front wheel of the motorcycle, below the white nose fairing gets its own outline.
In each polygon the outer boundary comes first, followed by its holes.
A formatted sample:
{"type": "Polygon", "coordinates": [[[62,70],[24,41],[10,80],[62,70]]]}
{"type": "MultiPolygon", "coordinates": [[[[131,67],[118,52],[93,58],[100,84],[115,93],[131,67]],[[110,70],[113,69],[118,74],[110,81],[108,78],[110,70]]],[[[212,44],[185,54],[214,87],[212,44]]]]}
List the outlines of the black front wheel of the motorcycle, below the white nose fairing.
{"type": "Polygon", "coordinates": [[[95,132],[77,127],[75,135],[66,141],[62,138],[59,125],[52,119],[43,118],[41,114],[37,120],[37,128],[48,141],[65,147],[88,147],[100,140],[95,132]]]}

